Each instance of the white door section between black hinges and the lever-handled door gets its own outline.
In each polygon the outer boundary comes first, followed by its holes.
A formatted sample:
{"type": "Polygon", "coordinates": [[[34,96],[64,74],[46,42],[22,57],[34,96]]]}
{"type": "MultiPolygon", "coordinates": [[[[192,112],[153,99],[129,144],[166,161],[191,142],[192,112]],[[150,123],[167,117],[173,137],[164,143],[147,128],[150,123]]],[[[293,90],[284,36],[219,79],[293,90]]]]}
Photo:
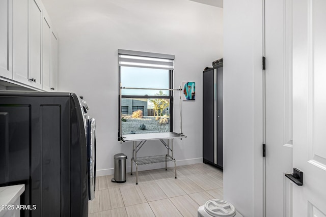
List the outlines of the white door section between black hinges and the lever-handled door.
{"type": "Polygon", "coordinates": [[[265,215],[291,216],[292,1],[265,0],[265,215]]]}

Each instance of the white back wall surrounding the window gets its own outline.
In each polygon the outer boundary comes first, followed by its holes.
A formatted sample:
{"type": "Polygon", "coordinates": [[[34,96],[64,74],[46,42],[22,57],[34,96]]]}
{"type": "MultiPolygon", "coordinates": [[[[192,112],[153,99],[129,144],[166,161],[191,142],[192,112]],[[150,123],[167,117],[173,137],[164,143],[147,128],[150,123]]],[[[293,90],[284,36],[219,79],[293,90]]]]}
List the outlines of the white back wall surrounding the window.
{"type": "MultiPolygon", "coordinates": [[[[112,174],[113,156],[119,152],[127,154],[130,170],[132,144],[117,141],[118,49],[174,54],[175,87],[196,82],[196,101],[183,103],[187,138],[176,140],[174,147],[178,165],[202,162],[202,70],[223,57],[223,9],[188,0],[43,3],[59,35],[58,88],[83,96],[96,119],[97,174],[112,174]]],[[[177,114],[178,94],[175,108],[177,114]]],[[[139,155],[161,154],[164,147],[157,145],[145,144],[139,155]]]]}

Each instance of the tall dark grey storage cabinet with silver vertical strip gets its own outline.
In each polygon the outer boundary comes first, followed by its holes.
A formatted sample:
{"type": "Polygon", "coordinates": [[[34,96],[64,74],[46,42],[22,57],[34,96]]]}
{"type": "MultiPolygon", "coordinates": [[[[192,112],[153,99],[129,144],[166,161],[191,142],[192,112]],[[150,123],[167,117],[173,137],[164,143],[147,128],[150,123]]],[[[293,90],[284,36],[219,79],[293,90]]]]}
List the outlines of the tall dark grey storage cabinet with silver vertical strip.
{"type": "Polygon", "coordinates": [[[203,72],[203,162],[223,169],[223,63],[203,72]]]}

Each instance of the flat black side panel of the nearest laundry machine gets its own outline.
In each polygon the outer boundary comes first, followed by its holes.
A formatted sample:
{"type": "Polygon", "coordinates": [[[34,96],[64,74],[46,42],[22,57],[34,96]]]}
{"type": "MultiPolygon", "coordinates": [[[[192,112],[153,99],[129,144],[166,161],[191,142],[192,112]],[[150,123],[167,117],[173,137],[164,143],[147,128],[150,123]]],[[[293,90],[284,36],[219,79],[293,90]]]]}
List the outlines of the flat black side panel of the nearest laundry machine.
{"type": "Polygon", "coordinates": [[[25,183],[22,200],[37,207],[20,210],[22,216],[70,216],[70,204],[75,201],[70,202],[69,102],[67,97],[35,100],[11,96],[0,100],[0,184],[25,183]],[[10,139],[4,144],[6,124],[10,139]]]}

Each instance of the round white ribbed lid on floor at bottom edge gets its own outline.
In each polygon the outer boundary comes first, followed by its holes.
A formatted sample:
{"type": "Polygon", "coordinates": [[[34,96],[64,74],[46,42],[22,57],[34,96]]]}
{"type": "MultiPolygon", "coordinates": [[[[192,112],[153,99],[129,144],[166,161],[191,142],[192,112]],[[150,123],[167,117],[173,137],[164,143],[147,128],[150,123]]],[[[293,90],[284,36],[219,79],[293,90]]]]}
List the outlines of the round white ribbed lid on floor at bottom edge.
{"type": "Polygon", "coordinates": [[[209,200],[205,203],[204,208],[214,217],[233,217],[236,214],[234,206],[224,200],[209,200]]]}

